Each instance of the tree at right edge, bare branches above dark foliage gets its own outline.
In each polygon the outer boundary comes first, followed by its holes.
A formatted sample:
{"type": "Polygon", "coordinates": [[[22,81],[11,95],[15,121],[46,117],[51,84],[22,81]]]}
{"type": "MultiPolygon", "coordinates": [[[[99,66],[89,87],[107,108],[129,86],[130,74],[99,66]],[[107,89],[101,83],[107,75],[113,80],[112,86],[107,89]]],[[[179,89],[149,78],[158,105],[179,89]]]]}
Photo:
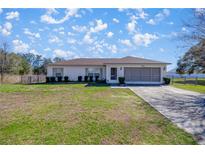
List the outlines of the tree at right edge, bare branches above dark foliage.
{"type": "Polygon", "coordinates": [[[178,60],[177,72],[205,73],[205,9],[198,9],[194,17],[185,23],[186,32],[182,35],[186,44],[193,45],[183,57],[178,60]]]}

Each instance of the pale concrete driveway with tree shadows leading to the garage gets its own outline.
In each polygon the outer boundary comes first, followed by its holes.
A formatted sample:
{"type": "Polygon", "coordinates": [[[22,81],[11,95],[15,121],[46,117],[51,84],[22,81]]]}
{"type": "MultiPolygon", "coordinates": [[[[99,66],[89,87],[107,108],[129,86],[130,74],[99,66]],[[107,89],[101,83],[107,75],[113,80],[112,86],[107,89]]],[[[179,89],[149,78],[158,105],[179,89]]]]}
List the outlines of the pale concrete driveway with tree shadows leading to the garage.
{"type": "Polygon", "coordinates": [[[180,128],[205,144],[205,95],[171,86],[129,87],[180,128]]]}

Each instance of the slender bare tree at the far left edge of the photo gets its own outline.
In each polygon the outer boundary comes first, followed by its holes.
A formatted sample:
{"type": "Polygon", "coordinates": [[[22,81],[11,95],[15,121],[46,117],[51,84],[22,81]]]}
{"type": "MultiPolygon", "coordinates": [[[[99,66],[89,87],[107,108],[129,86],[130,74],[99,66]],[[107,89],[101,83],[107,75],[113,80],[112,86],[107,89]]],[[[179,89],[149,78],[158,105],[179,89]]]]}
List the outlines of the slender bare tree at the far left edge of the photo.
{"type": "Polygon", "coordinates": [[[8,43],[3,42],[0,46],[0,73],[1,73],[1,83],[3,83],[4,74],[8,71],[8,43]]]}

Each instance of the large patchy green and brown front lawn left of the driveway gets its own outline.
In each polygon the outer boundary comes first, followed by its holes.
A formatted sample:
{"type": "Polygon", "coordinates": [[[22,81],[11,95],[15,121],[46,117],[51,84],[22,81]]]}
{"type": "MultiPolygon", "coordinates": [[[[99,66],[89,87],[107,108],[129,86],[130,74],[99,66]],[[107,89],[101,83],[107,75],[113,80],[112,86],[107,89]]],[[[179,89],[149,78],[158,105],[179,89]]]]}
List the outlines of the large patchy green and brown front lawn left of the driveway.
{"type": "Polygon", "coordinates": [[[1,85],[0,144],[196,144],[129,89],[1,85]]]}

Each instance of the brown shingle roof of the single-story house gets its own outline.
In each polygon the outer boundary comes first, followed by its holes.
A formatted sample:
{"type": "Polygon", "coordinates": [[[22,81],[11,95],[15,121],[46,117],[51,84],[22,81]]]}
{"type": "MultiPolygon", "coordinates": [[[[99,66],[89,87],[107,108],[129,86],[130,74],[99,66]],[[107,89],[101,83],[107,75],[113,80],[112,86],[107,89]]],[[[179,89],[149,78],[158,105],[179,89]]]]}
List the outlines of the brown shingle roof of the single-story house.
{"type": "Polygon", "coordinates": [[[170,64],[156,60],[144,59],[139,57],[123,57],[123,58],[77,58],[67,61],[56,62],[50,66],[94,66],[105,64],[170,64]]]}

